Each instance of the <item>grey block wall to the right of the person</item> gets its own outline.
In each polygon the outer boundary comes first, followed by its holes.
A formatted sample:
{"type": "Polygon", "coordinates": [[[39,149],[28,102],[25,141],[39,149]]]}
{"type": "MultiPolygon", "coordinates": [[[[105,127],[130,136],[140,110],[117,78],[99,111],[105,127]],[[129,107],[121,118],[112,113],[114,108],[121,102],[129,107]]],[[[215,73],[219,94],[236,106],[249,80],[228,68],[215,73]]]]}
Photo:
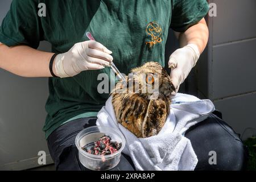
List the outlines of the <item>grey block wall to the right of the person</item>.
{"type": "MultiPolygon", "coordinates": [[[[210,40],[199,63],[199,95],[214,101],[238,133],[256,129],[256,1],[212,0],[210,40]]],[[[256,134],[256,133],[255,133],[256,134]]]]}

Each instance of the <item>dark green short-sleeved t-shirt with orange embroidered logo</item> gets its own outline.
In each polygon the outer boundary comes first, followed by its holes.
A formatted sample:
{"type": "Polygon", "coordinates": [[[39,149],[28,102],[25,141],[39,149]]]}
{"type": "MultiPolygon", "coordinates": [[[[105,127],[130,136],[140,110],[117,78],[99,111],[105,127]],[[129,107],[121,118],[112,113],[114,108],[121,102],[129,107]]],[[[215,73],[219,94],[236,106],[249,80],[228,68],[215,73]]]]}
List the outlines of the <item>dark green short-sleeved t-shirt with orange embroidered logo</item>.
{"type": "MultiPolygon", "coordinates": [[[[147,61],[164,66],[168,29],[183,32],[208,10],[205,0],[14,0],[0,27],[0,42],[37,48],[41,40],[47,40],[52,52],[63,53],[88,40],[85,33],[89,31],[113,52],[115,65],[127,74],[147,61]],[[45,17],[38,15],[39,3],[46,5],[45,17]]],[[[49,78],[48,115],[43,128],[46,138],[79,114],[97,115],[109,97],[97,92],[102,81],[97,80],[99,73],[109,75],[110,68],[49,78]]]]}

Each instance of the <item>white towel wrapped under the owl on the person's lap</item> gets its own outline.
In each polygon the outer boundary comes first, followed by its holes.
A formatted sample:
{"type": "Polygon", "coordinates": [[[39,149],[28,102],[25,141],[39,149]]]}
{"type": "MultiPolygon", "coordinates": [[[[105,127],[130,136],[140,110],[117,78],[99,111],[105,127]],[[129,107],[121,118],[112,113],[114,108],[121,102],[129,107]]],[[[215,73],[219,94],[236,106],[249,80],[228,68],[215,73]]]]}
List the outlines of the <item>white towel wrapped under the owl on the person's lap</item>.
{"type": "Polygon", "coordinates": [[[159,134],[137,138],[117,122],[110,97],[98,113],[97,125],[114,127],[122,132],[126,138],[123,153],[131,157],[137,170],[191,171],[198,160],[190,140],[184,137],[185,131],[207,118],[214,109],[210,100],[177,93],[159,134]]]}

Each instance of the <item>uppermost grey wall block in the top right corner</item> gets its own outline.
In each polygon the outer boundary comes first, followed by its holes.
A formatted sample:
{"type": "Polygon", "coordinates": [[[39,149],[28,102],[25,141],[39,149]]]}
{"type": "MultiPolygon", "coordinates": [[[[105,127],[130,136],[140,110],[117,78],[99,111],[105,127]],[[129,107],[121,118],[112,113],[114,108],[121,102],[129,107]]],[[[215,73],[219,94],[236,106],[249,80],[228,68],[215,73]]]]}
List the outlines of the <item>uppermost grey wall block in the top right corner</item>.
{"type": "Polygon", "coordinates": [[[255,0],[214,0],[217,17],[213,18],[213,44],[256,37],[255,0]]]}

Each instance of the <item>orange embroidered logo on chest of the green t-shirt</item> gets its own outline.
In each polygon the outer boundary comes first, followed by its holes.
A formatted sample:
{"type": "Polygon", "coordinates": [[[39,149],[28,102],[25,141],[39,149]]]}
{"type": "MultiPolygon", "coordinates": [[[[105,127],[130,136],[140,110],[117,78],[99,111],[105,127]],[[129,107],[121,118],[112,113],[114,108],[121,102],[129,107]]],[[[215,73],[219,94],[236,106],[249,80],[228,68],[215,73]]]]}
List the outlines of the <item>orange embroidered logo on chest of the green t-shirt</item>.
{"type": "Polygon", "coordinates": [[[162,42],[162,28],[156,22],[150,22],[147,25],[146,32],[151,36],[151,41],[146,42],[146,45],[153,47],[155,44],[162,42]]]}

